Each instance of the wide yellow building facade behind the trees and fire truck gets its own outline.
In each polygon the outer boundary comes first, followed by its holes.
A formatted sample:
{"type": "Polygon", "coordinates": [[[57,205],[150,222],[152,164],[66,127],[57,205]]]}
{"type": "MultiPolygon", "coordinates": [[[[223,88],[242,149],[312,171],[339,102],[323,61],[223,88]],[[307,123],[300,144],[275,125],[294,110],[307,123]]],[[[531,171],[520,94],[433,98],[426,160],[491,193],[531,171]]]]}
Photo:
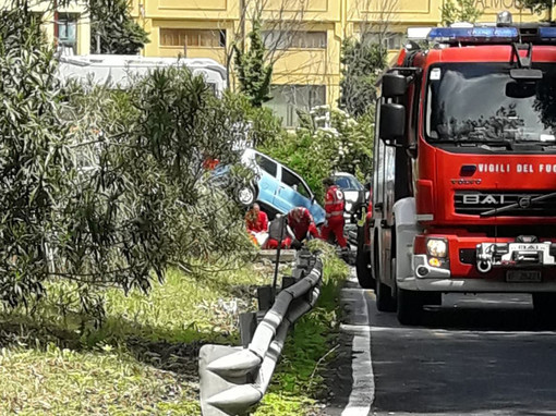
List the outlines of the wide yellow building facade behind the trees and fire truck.
{"type": "MultiPolygon", "coordinates": [[[[213,58],[229,65],[253,15],[263,22],[274,62],[271,107],[288,126],[295,108],[335,106],[339,96],[340,47],[365,34],[389,50],[403,45],[408,27],[440,24],[446,0],[133,0],[132,14],[150,34],[147,57],[213,58]]],[[[475,0],[480,21],[509,10],[513,21],[537,21],[519,0],[475,0]]],[[[233,79],[231,79],[233,86],[233,79]]]]}

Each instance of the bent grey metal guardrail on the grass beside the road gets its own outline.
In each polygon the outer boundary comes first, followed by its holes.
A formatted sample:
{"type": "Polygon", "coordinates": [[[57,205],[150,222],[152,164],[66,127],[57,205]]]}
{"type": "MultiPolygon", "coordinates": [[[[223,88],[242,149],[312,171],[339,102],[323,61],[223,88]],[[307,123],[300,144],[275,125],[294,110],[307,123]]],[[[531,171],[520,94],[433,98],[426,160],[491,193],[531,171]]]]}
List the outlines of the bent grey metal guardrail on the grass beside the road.
{"type": "MultiPolygon", "coordinates": [[[[312,262],[311,258],[301,257],[295,270],[309,268],[312,262]]],[[[316,258],[303,279],[289,286],[282,284],[246,347],[204,345],[201,348],[201,408],[204,416],[243,415],[263,399],[289,328],[311,310],[318,298],[322,272],[323,262],[316,258]]]]}

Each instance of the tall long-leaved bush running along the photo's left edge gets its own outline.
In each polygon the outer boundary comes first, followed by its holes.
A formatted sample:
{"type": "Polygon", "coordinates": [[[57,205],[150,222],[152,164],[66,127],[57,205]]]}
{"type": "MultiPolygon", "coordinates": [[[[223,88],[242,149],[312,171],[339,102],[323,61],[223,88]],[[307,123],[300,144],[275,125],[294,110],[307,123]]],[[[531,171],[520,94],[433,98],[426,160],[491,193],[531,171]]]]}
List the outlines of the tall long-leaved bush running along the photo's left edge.
{"type": "Polygon", "coordinates": [[[0,299],[40,296],[48,274],[47,236],[69,186],[72,164],[60,119],[52,50],[28,10],[0,20],[0,299]]]}

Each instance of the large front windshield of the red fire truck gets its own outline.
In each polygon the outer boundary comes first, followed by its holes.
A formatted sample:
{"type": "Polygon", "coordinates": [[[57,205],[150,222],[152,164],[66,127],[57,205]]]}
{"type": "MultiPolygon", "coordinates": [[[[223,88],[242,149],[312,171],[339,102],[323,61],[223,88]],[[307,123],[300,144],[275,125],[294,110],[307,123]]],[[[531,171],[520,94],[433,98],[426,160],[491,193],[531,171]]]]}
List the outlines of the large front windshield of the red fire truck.
{"type": "Polygon", "coordinates": [[[426,136],[434,142],[555,142],[556,64],[515,81],[509,63],[444,63],[428,73],[426,136]]]}

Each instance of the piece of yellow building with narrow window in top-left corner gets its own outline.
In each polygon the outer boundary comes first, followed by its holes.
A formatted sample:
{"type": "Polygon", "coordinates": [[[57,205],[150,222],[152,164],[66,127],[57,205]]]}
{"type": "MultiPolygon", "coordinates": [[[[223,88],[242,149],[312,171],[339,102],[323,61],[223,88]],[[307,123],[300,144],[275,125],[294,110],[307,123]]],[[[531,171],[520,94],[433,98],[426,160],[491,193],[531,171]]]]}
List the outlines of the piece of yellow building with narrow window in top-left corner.
{"type": "MultiPolygon", "coordinates": [[[[11,0],[0,0],[0,9],[9,8],[11,0]]],[[[29,0],[33,13],[40,15],[48,39],[65,53],[88,54],[90,50],[90,21],[83,7],[72,2],[67,8],[53,8],[56,0],[29,0]]]]}

